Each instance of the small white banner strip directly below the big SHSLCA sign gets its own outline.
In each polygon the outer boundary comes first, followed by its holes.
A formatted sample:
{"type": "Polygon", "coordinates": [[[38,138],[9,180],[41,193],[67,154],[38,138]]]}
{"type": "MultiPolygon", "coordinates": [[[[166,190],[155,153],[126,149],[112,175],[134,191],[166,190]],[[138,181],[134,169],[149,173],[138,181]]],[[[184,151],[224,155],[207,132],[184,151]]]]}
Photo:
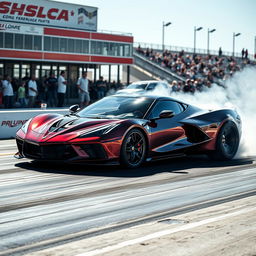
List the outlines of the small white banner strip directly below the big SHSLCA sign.
{"type": "Polygon", "coordinates": [[[43,35],[44,29],[40,26],[30,26],[25,24],[14,24],[6,23],[0,21],[0,31],[10,32],[10,33],[21,33],[21,34],[31,34],[31,35],[43,35]]]}

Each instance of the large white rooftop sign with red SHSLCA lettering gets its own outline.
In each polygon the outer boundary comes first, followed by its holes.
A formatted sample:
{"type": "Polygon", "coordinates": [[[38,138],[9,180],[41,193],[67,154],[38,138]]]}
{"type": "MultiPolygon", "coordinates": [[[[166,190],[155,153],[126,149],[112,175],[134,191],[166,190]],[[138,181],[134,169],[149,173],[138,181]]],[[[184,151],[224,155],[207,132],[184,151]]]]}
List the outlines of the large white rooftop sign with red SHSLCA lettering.
{"type": "Polygon", "coordinates": [[[0,1],[0,21],[97,31],[96,7],[48,0],[0,1]]]}

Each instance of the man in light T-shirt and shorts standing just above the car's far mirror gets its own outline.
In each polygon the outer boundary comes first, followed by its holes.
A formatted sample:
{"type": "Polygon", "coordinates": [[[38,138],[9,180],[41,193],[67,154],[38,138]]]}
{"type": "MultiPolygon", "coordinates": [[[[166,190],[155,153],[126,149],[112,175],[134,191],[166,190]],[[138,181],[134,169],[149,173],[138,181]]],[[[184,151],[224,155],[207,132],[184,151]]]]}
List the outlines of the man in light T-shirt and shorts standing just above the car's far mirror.
{"type": "Polygon", "coordinates": [[[90,103],[90,94],[89,94],[89,80],[87,79],[87,72],[82,73],[77,81],[78,95],[80,108],[88,106],[90,103]]]}

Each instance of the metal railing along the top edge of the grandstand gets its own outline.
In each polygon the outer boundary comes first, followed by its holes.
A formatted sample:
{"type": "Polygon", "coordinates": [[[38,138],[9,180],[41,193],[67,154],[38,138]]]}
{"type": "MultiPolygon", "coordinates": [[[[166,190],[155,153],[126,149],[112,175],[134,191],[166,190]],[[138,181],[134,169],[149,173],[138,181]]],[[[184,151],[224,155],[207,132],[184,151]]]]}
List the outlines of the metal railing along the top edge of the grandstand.
{"type": "MultiPolygon", "coordinates": [[[[150,48],[150,49],[159,50],[159,51],[162,51],[162,47],[163,47],[161,44],[151,44],[151,43],[143,43],[143,42],[134,42],[134,44],[133,44],[133,46],[135,48],[139,47],[139,45],[143,49],[150,48]]],[[[180,51],[183,50],[185,53],[190,53],[190,54],[194,53],[194,48],[191,48],[191,47],[165,45],[165,49],[169,50],[169,51],[172,51],[172,52],[180,52],[180,51]]],[[[206,49],[200,49],[200,48],[196,49],[196,53],[204,54],[204,55],[208,54],[206,49]]],[[[209,50],[209,53],[211,55],[219,55],[219,51],[215,51],[215,50],[209,50]]],[[[228,51],[222,51],[222,56],[233,56],[233,53],[228,52],[228,51]]],[[[234,57],[241,58],[242,56],[241,56],[241,53],[236,52],[234,54],[234,57]]],[[[254,60],[253,54],[249,54],[248,58],[250,60],[254,60]]]]}

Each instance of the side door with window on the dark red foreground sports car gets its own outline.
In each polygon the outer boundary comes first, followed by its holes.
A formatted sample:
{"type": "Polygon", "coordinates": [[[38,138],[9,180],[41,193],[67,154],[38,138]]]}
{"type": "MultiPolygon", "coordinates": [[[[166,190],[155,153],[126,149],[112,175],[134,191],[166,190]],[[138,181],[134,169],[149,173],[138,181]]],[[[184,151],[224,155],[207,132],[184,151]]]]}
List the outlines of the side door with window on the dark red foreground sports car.
{"type": "Polygon", "coordinates": [[[163,110],[171,110],[173,117],[149,122],[150,148],[155,153],[169,153],[183,146],[185,132],[179,123],[185,107],[172,100],[160,100],[153,107],[148,119],[158,118],[163,110]]]}

